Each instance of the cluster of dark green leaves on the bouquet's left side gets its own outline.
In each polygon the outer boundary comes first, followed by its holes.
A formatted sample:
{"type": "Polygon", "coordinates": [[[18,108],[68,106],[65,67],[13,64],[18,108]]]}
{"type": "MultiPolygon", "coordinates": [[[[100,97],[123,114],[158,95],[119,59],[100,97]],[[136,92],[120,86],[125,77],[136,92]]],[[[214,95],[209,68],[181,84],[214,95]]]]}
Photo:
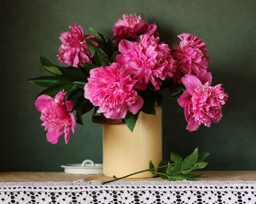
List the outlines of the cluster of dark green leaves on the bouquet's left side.
{"type": "Polygon", "coordinates": [[[83,124],[82,115],[94,107],[88,99],[83,97],[83,88],[90,76],[90,69],[95,68],[96,65],[84,63],[84,67],[61,67],[52,64],[43,56],[40,57],[40,61],[43,68],[54,76],[37,77],[28,81],[46,88],[39,95],[46,94],[54,97],[64,89],[67,92],[67,100],[74,103],[73,110],[76,110],[76,122],[83,124]]]}

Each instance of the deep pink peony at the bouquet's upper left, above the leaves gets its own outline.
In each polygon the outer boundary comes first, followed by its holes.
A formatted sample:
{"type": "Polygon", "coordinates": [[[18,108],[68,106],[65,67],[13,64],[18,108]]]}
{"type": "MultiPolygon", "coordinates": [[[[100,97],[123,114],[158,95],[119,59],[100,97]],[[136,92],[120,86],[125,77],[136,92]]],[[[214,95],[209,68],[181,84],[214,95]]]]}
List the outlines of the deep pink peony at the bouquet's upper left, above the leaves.
{"type": "MultiPolygon", "coordinates": [[[[74,67],[83,66],[84,62],[92,63],[93,55],[90,53],[85,39],[90,40],[94,35],[84,35],[82,27],[76,26],[76,23],[74,26],[70,26],[70,30],[70,32],[62,32],[59,37],[62,44],[58,49],[58,61],[74,67]]],[[[97,42],[90,41],[98,46],[97,42]]]]}

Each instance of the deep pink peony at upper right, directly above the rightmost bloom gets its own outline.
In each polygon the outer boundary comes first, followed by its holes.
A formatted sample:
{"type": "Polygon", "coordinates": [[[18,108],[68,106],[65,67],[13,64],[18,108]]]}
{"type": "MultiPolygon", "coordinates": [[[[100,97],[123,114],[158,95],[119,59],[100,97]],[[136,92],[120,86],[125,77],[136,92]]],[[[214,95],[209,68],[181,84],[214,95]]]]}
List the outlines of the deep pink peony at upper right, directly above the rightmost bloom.
{"type": "Polygon", "coordinates": [[[210,57],[206,56],[208,50],[202,39],[188,33],[182,33],[178,37],[181,39],[180,44],[171,48],[174,50],[171,55],[177,66],[173,77],[175,83],[181,83],[184,74],[196,75],[202,69],[207,70],[210,61],[210,57]]]}

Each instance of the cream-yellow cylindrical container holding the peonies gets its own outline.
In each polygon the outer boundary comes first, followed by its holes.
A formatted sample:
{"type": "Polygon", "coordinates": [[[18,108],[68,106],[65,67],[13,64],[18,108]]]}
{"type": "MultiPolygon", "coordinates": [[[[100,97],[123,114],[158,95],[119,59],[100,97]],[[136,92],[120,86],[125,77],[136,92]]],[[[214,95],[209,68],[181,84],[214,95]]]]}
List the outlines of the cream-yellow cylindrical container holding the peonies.
{"type": "MultiPolygon", "coordinates": [[[[103,124],[103,174],[121,178],[162,161],[162,107],[155,105],[156,115],[140,112],[133,132],[125,124],[103,124]]],[[[152,178],[143,172],[128,178],[152,178]]]]}

